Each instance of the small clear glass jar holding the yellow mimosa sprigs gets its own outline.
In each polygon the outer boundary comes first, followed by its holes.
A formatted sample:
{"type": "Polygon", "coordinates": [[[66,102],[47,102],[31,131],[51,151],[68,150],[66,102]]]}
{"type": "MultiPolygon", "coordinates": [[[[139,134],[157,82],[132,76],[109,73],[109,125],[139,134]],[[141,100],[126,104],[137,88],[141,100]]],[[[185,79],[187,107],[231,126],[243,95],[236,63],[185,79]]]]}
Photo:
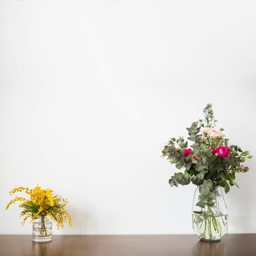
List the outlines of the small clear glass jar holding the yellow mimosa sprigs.
{"type": "Polygon", "coordinates": [[[52,240],[52,222],[46,221],[45,217],[39,218],[38,222],[32,223],[32,241],[47,242],[52,240]]]}

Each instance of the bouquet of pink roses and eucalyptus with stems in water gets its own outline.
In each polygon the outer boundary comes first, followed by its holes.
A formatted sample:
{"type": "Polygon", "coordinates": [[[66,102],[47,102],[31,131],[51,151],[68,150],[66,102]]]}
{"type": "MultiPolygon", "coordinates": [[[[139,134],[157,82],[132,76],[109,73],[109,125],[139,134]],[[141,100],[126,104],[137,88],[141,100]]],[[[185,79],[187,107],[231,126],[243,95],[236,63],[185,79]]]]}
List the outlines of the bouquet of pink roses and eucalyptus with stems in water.
{"type": "MultiPolygon", "coordinates": [[[[251,158],[249,151],[243,151],[240,147],[228,146],[229,139],[222,133],[223,128],[216,128],[217,120],[214,118],[212,105],[207,104],[203,109],[204,120],[194,122],[190,128],[188,139],[193,141],[191,148],[183,137],[171,138],[168,143],[161,146],[161,157],[167,158],[177,169],[183,172],[174,173],[169,180],[171,187],[193,183],[198,186],[200,195],[197,206],[201,210],[199,216],[208,218],[213,216],[213,200],[216,200],[214,191],[223,187],[227,193],[230,186],[238,186],[234,181],[236,173],[245,173],[249,170],[244,166],[246,158],[251,158]]],[[[202,222],[202,218],[196,220],[202,222]]],[[[216,219],[213,219],[216,229],[216,219]]],[[[207,219],[210,225],[209,219],[207,219]]],[[[210,227],[211,228],[211,227],[210,227]]],[[[205,229],[204,229],[205,235],[205,229]]]]}

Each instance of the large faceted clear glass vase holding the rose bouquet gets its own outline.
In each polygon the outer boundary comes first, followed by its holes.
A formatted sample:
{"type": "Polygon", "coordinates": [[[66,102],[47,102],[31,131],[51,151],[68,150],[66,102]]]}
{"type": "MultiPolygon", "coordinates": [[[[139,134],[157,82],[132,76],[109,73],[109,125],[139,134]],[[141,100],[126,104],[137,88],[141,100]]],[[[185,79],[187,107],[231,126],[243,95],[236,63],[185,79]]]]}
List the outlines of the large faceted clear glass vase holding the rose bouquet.
{"type": "Polygon", "coordinates": [[[211,200],[212,206],[197,206],[200,187],[195,190],[192,207],[192,224],[195,234],[204,241],[218,241],[227,232],[228,210],[223,198],[221,187],[217,186],[212,193],[216,199],[211,200]]]}

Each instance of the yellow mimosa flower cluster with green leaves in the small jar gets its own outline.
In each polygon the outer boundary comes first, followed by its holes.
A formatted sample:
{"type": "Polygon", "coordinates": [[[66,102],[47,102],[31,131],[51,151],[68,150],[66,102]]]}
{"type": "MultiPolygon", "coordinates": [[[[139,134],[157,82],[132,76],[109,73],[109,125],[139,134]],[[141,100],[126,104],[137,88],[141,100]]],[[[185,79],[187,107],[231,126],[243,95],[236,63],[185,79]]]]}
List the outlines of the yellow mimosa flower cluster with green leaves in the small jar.
{"type": "Polygon", "coordinates": [[[68,203],[67,199],[58,198],[57,195],[52,196],[51,189],[41,189],[40,186],[36,186],[34,189],[29,189],[28,187],[18,187],[10,191],[10,195],[16,192],[25,191],[29,195],[29,199],[25,199],[24,197],[15,197],[11,200],[6,207],[6,210],[9,208],[11,204],[16,201],[23,201],[19,207],[24,208],[24,210],[20,213],[20,217],[24,216],[23,222],[24,225],[27,218],[31,217],[31,221],[36,220],[38,218],[44,219],[46,217],[51,218],[56,221],[57,228],[63,228],[63,222],[68,222],[68,225],[72,227],[71,216],[64,209],[66,204],[68,203]]]}

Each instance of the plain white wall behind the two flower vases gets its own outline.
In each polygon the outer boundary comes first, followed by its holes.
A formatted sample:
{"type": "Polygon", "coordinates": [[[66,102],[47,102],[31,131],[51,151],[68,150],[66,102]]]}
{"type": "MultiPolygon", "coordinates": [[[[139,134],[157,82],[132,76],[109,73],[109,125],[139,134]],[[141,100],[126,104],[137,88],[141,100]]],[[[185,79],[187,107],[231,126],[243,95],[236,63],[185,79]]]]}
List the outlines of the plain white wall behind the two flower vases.
{"type": "MultiPolygon", "coordinates": [[[[195,186],[159,157],[212,103],[256,156],[256,2],[0,1],[0,233],[16,186],[69,199],[54,234],[194,234],[195,186]]],[[[255,233],[256,158],[225,196],[229,233],[255,233]]]]}

